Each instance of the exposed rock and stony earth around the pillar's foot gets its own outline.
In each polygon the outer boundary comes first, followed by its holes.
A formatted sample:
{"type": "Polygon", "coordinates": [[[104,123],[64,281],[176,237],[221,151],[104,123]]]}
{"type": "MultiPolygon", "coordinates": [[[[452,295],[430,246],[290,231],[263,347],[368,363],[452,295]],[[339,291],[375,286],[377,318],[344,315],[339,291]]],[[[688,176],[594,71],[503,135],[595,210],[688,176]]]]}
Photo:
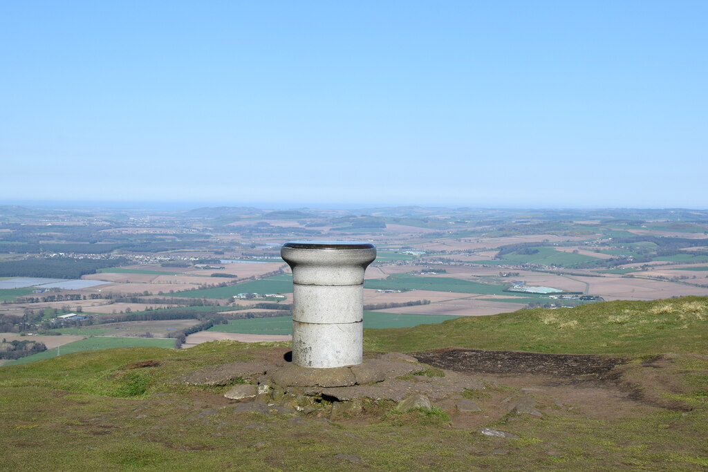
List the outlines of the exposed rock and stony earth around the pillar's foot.
{"type": "MultiPolygon", "coordinates": [[[[480,415],[475,398],[489,396],[484,381],[430,367],[410,355],[389,352],[362,364],[333,369],[292,362],[234,362],[183,376],[180,383],[224,388],[236,410],[291,413],[329,420],[376,420],[409,410],[480,415]]],[[[496,392],[498,394],[498,392],[496,392]]],[[[530,396],[509,402],[513,414],[540,414],[530,396]]]]}

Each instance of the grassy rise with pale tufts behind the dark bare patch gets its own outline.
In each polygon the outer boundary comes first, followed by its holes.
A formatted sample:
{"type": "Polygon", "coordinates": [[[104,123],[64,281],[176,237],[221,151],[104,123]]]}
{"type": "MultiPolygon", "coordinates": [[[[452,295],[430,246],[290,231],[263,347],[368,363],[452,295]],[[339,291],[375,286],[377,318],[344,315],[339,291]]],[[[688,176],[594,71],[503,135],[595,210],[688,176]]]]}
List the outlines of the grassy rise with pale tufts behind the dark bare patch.
{"type": "Polygon", "coordinates": [[[572,309],[465,316],[438,325],[367,331],[377,350],[458,346],[569,354],[704,353],[708,298],[610,301],[572,309]]]}

